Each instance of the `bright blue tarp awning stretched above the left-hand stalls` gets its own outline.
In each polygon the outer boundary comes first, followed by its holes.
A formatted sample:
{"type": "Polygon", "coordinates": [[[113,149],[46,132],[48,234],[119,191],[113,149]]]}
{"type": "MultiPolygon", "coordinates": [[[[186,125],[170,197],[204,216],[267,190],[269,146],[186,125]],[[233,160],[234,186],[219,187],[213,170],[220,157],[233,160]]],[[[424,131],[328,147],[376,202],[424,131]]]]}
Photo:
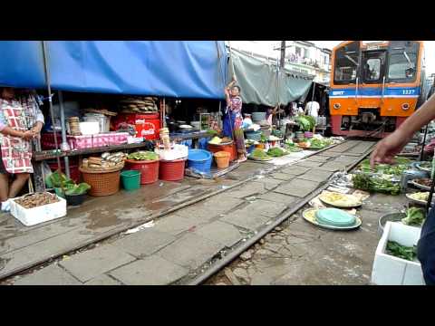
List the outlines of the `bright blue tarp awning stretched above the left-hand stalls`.
{"type": "MultiPolygon", "coordinates": [[[[50,41],[53,90],[222,99],[222,41],[50,41]]],[[[0,42],[0,85],[46,87],[40,41],[0,42]]]]}

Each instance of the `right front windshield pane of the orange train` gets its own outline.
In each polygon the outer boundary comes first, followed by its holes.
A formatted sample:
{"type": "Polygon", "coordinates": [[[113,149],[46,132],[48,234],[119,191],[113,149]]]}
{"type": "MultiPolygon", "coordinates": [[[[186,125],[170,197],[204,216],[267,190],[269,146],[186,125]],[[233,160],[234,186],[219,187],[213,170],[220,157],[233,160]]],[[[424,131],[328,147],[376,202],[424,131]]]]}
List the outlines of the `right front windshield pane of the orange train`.
{"type": "Polygon", "coordinates": [[[415,82],[419,43],[391,42],[388,79],[391,82],[415,82]]]}

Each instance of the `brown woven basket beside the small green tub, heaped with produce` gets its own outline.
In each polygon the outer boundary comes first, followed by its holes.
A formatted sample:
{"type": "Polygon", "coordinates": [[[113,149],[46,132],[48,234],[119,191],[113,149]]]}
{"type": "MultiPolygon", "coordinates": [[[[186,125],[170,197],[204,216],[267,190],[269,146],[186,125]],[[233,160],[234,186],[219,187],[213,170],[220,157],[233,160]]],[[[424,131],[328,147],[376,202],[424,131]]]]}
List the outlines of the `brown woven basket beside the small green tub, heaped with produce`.
{"type": "Polygon", "coordinates": [[[120,178],[122,166],[105,169],[92,170],[90,168],[80,167],[83,182],[91,186],[90,196],[110,196],[120,191],[120,178]]]}

